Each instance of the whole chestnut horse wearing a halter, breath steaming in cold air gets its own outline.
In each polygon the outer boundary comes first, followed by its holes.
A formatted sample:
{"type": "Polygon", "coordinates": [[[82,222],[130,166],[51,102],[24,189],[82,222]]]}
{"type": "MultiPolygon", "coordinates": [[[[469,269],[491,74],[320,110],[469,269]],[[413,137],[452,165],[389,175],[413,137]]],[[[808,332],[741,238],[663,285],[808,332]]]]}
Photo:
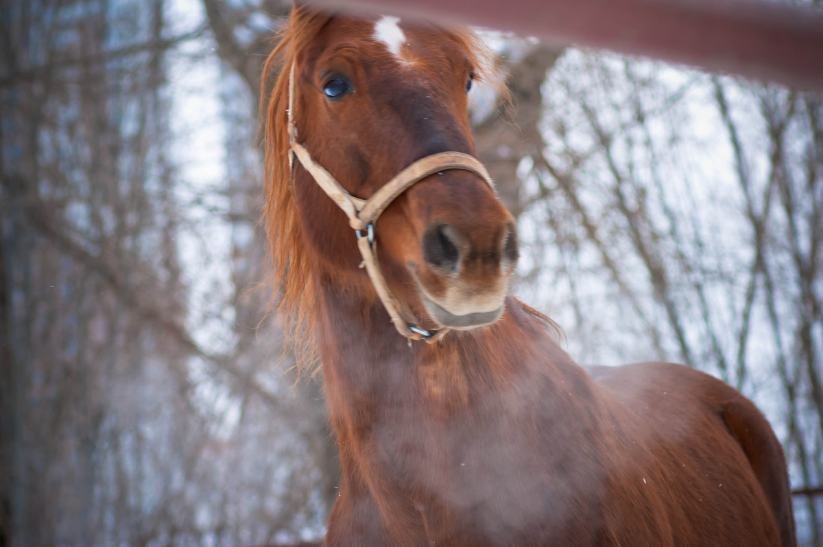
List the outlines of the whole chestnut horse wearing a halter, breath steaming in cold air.
{"type": "Polygon", "coordinates": [[[587,373],[507,296],[467,116],[487,62],[464,30],[300,6],[267,60],[280,307],[340,446],[327,545],[795,545],[751,402],[681,365],[587,373]]]}

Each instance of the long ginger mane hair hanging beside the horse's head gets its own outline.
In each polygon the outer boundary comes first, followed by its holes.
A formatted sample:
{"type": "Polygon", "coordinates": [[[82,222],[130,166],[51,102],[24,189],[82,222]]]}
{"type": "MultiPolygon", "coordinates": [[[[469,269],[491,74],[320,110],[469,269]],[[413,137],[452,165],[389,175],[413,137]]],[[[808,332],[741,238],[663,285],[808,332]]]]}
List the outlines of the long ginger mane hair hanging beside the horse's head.
{"type": "MultiPolygon", "coordinates": [[[[265,174],[263,183],[263,225],[266,230],[270,275],[277,290],[272,294],[269,311],[281,318],[286,348],[294,352],[296,365],[316,363],[317,306],[314,302],[312,265],[305,252],[303,234],[291,195],[289,136],[287,132],[289,69],[298,54],[332,19],[329,11],[296,6],[277,37],[277,44],[263,64],[258,112],[263,117],[265,174]],[[273,85],[271,84],[274,80],[273,85]],[[270,87],[271,85],[271,87],[270,87]]],[[[442,29],[467,51],[477,80],[490,80],[495,53],[472,30],[460,27],[442,29]]],[[[493,79],[492,79],[493,80],[493,79]]],[[[492,82],[502,97],[502,82],[492,82]]]]}

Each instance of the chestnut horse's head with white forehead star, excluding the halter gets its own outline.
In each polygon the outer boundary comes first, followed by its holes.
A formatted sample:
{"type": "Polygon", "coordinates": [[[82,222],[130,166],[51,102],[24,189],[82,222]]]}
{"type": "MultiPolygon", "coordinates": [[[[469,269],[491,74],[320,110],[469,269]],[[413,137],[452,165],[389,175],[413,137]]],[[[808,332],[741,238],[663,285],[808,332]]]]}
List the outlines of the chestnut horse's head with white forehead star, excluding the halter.
{"type": "MultiPolygon", "coordinates": [[[[347,194],[368,200],[432,154],[476,154],[467,93],[486,57],[472,34],[298,7],[292,25],[301,24],[314,32],[304,31],[310,37],[291,51],[291,106],[281,103],[281,110],[291,110],[291,140],[347,194]]],[[[283,122],[281,112],[270,116],[283,122]]],[[[346,215],[305,168],[296,165],[291,177],[315,263],[336,283],[371,290],[346,215]]],[[[422,323],[472,329],[502,315],[517,235],[491,183],[476,172],[444,168],[422,177],[388,203],[374,232],[389,290],[400,306],[428,318],[422,323]]]]}

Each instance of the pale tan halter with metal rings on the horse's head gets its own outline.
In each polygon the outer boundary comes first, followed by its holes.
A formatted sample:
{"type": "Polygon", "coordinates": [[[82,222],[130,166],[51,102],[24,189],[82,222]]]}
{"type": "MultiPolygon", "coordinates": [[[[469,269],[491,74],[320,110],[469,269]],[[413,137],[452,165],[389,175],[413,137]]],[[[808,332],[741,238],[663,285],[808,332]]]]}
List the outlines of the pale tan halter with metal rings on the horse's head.
{"type": "Polygon", "coordinates": [[[314,178],[318,186],[326,192],[328,197],[332,198],[334,203],[336,203],[337,206],[342,209],[343,213],[346,214],[346,217],[349,218],[349,226],[355,230],[357,248],[360,249],[360,255],[363,257],[363,263],[360,264],[360,267],[365,267],[366,272],[368,272],[371,283],[374,285],[374,289],[377,291],[377,295],[388,312],[389,317],[392,318],[394,328],[398,329],[398,333],[412,340],[425,340],[430,343],[437,342],[449,332],[449,328],[422,329],[417,319],[412,315],[412,311],[398,301],[388,289],[386,279],[383,277],[383,272],[380,271],[380,265],[377,261],[377,243],[374,240],[374,223],[377,222],[380,214],[383,213],[386,207],[388,207],[398,195],[407,191],[416,182],[420,182],[425,177],[435,174],[435,172],[445,171],[447,169],[463,169],[464,171],[472,172],[478,177],[481,177],[481,179],[489,185],[491,191],[495,191],[495,185],[491,182],[489,172],[486,171],[482,163],[468,154],[441,152],[418,159],[401,172],[398,172],[390,181],[378,191],[374,192],[374,195],[368,200],[360,200],[349,194],[323,166],[314,162],[314,160],[311,159],[309,150],[297,142],[297,128],[293,118],[294,98],[295,65],[292,63],[289,74],[289,108],[286,110],[289,120],[289,168],[291,170],[291,176],[294,177],[295,159],[297,159],[300,165],[314,178]],[[365,236],[363,232],[365,232],[365,236]]]}

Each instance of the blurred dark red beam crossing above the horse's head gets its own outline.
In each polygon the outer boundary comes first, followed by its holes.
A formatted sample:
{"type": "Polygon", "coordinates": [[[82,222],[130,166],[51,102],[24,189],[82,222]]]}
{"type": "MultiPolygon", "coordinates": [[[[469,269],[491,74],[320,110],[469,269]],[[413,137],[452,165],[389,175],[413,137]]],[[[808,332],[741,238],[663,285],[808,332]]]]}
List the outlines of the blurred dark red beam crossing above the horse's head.
{"type": "MultiPolygon", "coordinates": [[[[314,0],[317,1],[317,0],[314,0]]],[[[823,11],[760,0],[319,0],[823,90],[823,11]]]]}

